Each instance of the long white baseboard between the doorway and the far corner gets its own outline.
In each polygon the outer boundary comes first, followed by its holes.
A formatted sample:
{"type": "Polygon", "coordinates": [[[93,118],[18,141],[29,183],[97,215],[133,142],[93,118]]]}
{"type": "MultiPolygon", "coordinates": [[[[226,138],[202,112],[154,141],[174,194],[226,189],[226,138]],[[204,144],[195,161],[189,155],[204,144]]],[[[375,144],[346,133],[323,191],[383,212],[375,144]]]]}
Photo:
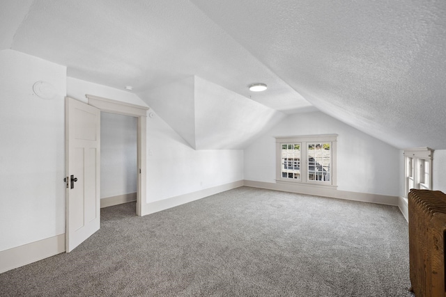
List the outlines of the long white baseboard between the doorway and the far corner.
{"type": "Polygon", "coordinates": [[[146,214],[153,214],[164,209],[169,209],[171,207],[177,207],[178,205],[192,202],[194,200],[199,200],[201,198],[228,191],[233,188],[238,188],[240,186],[243,186],[243,180],[240,180],[238,182],[231,182],[229,184],[222,184],[221,186],[214,186],[213,188],[205,188],[201,191],[187,193],[172,198],[150,202],[144,205],[143,216],[145,216],[146,214]]]}

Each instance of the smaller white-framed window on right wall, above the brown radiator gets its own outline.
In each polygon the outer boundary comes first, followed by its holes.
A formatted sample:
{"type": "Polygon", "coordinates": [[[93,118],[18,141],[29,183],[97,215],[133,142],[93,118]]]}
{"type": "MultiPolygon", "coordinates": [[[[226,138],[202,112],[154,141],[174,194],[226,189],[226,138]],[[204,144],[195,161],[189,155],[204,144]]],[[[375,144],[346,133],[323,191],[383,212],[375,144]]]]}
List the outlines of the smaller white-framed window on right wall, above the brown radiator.
{"type": "Polygon", "coordinates": [[[429,147],[404,150],[406,198],[411,188],[432,189],[432,156],[429,147]]]}

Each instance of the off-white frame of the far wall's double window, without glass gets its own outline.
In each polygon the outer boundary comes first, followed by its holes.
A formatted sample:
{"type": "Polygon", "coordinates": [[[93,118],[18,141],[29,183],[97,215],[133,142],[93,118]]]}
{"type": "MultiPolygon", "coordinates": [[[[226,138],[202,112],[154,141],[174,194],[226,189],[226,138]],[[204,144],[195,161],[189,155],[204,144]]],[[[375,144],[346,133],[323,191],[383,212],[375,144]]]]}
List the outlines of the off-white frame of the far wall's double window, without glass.
{"type": "Polygon", "coordinates": [[[279,136],[276,137],[276,182],[284,184],[300,184],[305,186],[320,186],[323,188],[337,187],[337,134],[307,135],[307,136],[279,136]],[[300,179],[282,177],[282,145],[300,144],[300,179]],[[330,181],[308,179],[308,143],[330,143],[330,181]]]}

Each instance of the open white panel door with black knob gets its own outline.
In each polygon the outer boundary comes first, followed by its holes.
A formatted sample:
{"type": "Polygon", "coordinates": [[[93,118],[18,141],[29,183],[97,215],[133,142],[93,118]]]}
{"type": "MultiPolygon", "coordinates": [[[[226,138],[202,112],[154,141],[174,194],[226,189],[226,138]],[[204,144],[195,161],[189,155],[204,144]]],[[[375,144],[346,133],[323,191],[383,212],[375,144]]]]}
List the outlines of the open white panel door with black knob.
{"type": "Polygon", "coordinates": [[[100,227],[100,109],[66,97],[66,251],[100,227]]]}

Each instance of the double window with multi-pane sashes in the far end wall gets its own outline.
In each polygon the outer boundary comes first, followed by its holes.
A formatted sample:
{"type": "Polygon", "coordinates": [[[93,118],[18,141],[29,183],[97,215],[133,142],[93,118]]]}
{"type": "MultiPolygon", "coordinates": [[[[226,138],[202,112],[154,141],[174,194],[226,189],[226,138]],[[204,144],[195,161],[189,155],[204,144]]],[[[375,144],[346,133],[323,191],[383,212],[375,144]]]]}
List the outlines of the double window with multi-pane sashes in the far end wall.
{"type": "Polygon", "coordinates": [[[337,135],[278,137],[277,182],[336,186],[337,135]]]}

